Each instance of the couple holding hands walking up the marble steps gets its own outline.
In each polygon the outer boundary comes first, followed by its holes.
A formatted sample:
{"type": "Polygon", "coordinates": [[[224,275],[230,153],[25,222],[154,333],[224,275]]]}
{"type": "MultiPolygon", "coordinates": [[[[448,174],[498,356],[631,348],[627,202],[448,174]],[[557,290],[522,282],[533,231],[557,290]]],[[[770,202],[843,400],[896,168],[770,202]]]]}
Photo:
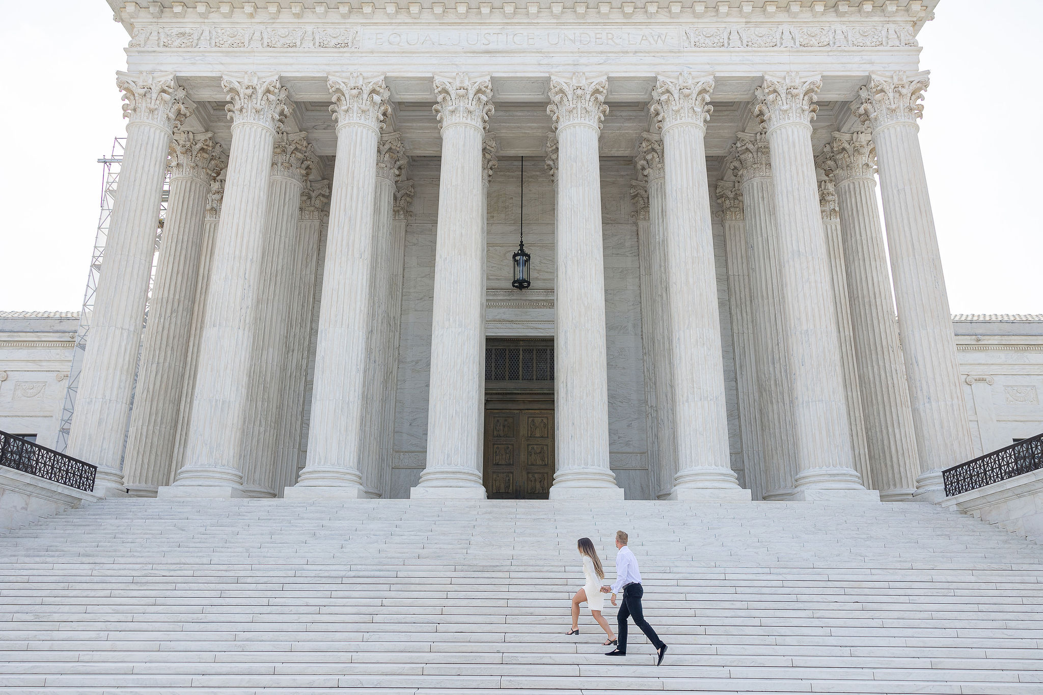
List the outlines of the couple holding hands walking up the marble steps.
{"type": "Polygon", "coordinates": [[[656,662],[656,666],[658,666],[662,664],[662,657],[666,654],[666,645],[645,620],[645,613],[641,610],[641,596],[645,595],[645,590],[641,588],[641,575],[637,570],[637,559],[627,547],[626,531],[615,531],[615,582],[611,587],[603,587],[601,581],[605,578],[605,571],[601,567],[601,560],[598,557],[593,543],[588,538],[581,538],[577,542],[577,548],[583,557],[583,575],[586,577],[586,582],[583,585],[583,589],[580,589],[573,596],[573,628],[566,635],[580,634],[580,603],[586,601],[587,607],[590,609],[590,615],[608,635],[608,639],[602,644],[606,647],[615,645],[615,648],[605,655],[626,656],[627,618],[633,617],[634,624],[641,628],[645,637],[655,647],[659,655],[659,660],[656,662]],[[616,605],[616,596],[620,596],[620,601],[623,603],[616,618],[620,628],[618,639],[612,637],[612,628],[601,615],[604,594],[611,594],[612,605],[616,605]]]}

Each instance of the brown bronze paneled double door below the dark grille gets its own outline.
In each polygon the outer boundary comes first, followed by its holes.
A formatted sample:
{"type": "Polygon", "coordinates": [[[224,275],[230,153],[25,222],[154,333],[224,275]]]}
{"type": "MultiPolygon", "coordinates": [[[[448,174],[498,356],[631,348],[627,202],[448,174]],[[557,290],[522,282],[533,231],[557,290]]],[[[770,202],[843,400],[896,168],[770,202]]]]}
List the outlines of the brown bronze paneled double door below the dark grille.
{"type": "Polygon", "coordinates": [[[554,478],[554,411],[486,411],[489,499],[547,499],[554,478]]]}

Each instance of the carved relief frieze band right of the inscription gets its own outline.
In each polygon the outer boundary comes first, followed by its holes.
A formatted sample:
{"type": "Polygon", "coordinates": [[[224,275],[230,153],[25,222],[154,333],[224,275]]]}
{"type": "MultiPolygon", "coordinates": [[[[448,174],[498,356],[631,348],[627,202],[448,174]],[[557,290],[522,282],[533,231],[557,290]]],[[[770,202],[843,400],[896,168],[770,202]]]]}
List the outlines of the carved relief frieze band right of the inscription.
{"type": "Polygon", "coordinates": [[[912,24],[685,27],[684,48],[901,48],[919,46],[912,24]]]}

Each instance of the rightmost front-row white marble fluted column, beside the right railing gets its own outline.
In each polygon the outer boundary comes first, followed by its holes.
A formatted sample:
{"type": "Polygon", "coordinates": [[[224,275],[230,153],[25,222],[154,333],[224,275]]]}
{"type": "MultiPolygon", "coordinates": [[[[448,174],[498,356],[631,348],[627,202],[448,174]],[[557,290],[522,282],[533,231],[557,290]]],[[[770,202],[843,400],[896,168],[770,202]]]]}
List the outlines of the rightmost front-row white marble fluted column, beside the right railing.
{"type": "Polygon", "coordinates": [[[888,225],[898,329],[913,408],[920,474],[916,495],[944,495],[942,471],[974,457],[960,386],[952,316],[920,152],[928,73],[871,73],[853,108],[873,129],[888,225]]]}

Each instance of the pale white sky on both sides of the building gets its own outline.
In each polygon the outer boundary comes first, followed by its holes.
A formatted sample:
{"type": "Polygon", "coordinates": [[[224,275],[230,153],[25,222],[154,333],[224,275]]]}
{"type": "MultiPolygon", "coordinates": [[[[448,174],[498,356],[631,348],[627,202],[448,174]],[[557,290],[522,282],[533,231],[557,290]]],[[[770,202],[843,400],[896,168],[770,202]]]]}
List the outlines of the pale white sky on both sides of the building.
{"type": "MultiPolygon", "coordinates": [[[[75,311],[122,135],[127,36],[103,0],[9,2],[0,25],[0,309],[75,311]]],[[[954,314],[1043,314],[1040,0],[942,0],[920,33],[931,71],[921,125],[954,314]],[[1002,11],[993,5],[1001,5],[1002,11]]]]}

